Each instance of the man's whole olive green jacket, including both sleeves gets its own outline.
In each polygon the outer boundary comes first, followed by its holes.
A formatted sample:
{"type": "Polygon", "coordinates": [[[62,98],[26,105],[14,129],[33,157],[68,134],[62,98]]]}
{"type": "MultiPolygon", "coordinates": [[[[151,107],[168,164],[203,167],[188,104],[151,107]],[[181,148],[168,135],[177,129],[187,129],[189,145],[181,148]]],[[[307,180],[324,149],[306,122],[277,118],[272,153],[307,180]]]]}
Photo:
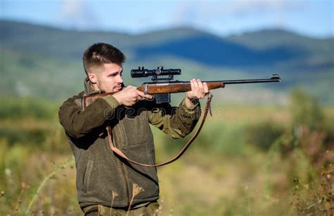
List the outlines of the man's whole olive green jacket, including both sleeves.
{"type": "Polygon", "coordinates": [[[159,181],[154,167],[130,164],[114,155],[109,148],[106,122],[112,128],[113,143],[130,159],[154,164],[154,141],[149,124],[172,138],[183,138],[192,131],[200,116],[199,103],[188,109],[143,100],[132,107],[120,106],[111,95],[99,98],[82,111],[82,97],[99,92],[85,80],[80,92],[59,109],[59,121],[73,150],[77,169],[78,201],[83,209],[89,205],[125,208],[132,198],[132,186],[144,189],[135,196],[132,205],[159,198],[159,181]],[[117,193],[117,196],[115,196],[117,193]]]}

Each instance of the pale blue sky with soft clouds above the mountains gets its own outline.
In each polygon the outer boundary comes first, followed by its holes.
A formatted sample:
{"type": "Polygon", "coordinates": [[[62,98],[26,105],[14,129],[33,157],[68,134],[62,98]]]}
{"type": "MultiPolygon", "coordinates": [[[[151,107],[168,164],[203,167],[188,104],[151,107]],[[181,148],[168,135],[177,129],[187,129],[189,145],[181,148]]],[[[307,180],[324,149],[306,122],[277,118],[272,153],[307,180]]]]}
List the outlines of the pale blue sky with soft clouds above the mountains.
{"type": "Polygon", "coordinates": [[[334,36],[334,0],[0,0],[0,19],[139,34],[191,27],[225,36],[284,28],[334,36]]]}

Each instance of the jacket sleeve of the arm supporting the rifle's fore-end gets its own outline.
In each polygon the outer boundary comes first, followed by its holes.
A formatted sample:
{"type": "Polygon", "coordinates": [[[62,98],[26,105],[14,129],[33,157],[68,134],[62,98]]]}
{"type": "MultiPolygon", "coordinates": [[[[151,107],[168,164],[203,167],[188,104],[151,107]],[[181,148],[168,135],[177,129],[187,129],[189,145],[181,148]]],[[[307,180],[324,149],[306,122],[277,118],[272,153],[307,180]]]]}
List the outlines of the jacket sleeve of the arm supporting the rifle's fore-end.
{"type": "Polygon", "coordinates": [[[148,110],[149,123],[172,138],[183,138],[191,133],[200,115],[201,107],[199,102],[192,109],[189,109],[185,104],[185,100],[180,103],[179,107],[171,107],[168,104],[148,110]]]}

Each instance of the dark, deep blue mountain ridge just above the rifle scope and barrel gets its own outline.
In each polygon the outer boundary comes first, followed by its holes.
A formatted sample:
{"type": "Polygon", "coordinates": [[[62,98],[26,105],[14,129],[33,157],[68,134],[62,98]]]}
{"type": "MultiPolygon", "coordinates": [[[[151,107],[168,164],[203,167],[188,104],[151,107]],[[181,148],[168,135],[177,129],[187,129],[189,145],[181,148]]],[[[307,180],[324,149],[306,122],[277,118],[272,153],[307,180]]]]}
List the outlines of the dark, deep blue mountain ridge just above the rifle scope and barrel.
{"type": "Polygon", "coordinates": [[[162,44],[151,44],[135,48],[137,59],[152,56],[177,56],[208,66],[246,68],[250,66],[270,66],[291,58],[305,56],[302,49],[293,50],[279,46],[271,49],[250,49],[242,44],[228,42],[214,35],[195,35],[178,40],[168,40],[162,44]]]}

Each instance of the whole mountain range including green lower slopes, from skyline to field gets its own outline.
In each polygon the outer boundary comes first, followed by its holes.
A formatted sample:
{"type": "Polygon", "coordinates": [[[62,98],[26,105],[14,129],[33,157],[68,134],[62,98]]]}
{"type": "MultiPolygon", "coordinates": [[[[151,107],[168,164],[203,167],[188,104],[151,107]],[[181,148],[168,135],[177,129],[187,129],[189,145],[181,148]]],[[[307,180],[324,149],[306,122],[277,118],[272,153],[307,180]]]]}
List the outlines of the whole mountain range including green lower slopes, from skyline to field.
{"type": "MultiPolygon", "coordinates": [[[[280,73],[280,85],[259,86],[280,91],[296,85],[314,86],[309,90],[313,95],[334,103],[328,95],[333,90],[333,38],[317,39],[278,29],[228,37],[192,28],[130,35],[62,30],[11,20],[0,20],[0,70],[6,73],[6,79],[0,81],[2,94],[63,98],[78,92],[81,83],[70,84],[83,79],[82,52],[94,42],[107,42],[125,52],[125,71],[139,65],[163,65],[182,68],[182,79],[267,78],[280,73]]],[[[125,78],[130,76],[125,73],[125,78]]]]}

